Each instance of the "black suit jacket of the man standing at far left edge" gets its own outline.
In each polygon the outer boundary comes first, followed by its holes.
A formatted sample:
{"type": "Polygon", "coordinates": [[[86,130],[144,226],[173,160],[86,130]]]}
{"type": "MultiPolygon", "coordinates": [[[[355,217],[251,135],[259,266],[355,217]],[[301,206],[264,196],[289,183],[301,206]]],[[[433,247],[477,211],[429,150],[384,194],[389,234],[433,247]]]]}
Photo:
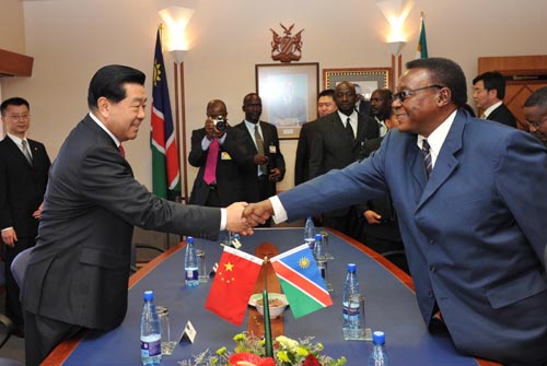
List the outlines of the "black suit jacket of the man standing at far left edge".
{"type": "Polygon", "coordinates": [[[44,200],[51,163],[44,144],[27,141],[33,164],[9,137],[0,142],[0,229],[13,227],[18,237],[34,240],[38,221],[33,213],[44,200]]]}

